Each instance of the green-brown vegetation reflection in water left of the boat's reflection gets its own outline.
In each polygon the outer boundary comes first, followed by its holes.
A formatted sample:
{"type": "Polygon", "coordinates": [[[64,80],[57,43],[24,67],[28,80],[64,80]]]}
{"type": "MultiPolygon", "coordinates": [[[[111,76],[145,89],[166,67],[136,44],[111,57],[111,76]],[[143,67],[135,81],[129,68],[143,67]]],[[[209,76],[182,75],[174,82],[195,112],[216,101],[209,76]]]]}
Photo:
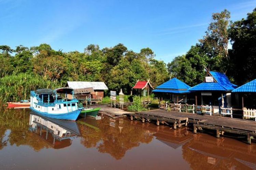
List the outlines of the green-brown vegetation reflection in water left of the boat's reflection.
{"type": "Polygon", "coordinates": [[[6,146],[8,141],[11,146],[28,145],[35,151],[50,147],[40,137],[28,131],[29,112],[29,109],[8,109],[0,114],[0,150],[6,146]],[[10,130],[8,139],[2,141],[7,129],[10,130]]]}

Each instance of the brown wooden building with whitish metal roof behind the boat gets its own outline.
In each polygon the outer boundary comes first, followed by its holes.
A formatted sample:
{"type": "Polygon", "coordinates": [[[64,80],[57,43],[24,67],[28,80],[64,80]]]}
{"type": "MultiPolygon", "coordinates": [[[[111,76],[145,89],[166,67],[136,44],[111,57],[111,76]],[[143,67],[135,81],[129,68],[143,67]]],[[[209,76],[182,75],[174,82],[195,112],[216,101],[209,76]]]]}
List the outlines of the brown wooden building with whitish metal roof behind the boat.
{"type": "MultiPolygon", "coordinates": [[[[78,92],[81,92],[81,89],[90,91],[91,98],[99,99],[104,97],[104,90],[108,90],[108,87],[105,85],[104,82],[70,82],[68,81],[66,87],[70,87],[78,92]],[[94,91],[88,88],[93,88],[94,91]]],[[[82,90],[82,91],[83,91],[82,90]]],[[[81,94],[81,93],[79,93],[81,94]]],[[[85,93],[83,93],[85,94],[85,93]]],[[[76,95],[76,93],[74,93],[76,95]]],[[[81,96],[82,97],[82,96],[81,96]]]]}

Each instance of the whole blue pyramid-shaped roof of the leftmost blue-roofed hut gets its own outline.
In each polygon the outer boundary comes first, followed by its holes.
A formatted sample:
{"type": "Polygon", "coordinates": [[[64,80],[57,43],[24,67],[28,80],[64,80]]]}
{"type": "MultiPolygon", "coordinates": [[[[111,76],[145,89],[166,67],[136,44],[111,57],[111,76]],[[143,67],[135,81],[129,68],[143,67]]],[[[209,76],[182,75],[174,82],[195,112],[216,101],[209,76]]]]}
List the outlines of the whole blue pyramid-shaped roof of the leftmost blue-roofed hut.
{"type": "Polygon", "coordinates": [[[156,87],[153,92],[167,92],[167,93],[189,93],[189,85],[180,81],[177,78],[172,78],[171,80],[156,87]]]}

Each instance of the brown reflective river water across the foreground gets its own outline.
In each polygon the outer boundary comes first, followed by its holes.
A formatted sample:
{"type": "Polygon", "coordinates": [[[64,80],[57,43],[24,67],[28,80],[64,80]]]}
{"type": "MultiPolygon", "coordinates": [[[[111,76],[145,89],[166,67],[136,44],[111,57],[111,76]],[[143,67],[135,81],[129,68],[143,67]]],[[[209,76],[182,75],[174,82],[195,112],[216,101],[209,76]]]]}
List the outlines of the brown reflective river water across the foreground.
{"type": "Polygon", "coordinates": [[[0,112],[0,169],[256,169],[256,143],[186,128],[0,112]]]}

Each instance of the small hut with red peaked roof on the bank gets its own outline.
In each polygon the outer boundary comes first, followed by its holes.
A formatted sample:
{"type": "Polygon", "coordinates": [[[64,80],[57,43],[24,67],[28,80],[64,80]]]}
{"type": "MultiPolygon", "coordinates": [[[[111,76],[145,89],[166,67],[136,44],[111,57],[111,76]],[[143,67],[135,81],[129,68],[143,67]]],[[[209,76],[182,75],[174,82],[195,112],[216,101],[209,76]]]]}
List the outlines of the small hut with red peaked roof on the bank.
{"type": "Polygon", "coordinates": [[[140,96],[149,96],[152,89],[152,85],[150,84],[150,80],[148,81],[139,81],[132,87],[132,90],[136,90],[136,94],[140,96]]]}

